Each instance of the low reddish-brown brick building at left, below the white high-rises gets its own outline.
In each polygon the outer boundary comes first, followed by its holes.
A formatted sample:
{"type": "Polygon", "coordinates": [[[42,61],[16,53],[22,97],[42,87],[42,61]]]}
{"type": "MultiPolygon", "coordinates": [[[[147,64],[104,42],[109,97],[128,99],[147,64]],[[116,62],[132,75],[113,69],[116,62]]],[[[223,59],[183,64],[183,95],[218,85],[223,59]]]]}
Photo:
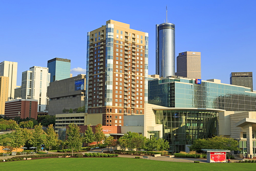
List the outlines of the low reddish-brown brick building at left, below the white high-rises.
{"type": "Polygon", "coordinates": [[[37,100],[20,99],[5,102],[4,116],[14,118],[34,118],[37,119],[37,100]]]}

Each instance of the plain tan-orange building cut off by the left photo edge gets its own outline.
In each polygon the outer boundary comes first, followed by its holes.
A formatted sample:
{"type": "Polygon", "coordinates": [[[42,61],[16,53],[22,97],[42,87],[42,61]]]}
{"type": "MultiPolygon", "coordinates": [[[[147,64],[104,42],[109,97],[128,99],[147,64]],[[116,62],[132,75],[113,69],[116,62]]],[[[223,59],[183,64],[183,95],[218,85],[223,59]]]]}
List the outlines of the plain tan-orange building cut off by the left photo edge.
{"type": "Polygon", "coordinates": [[[9,77],[0,77],[0,114],[4,114],[5,102],[8,99],[9,77]]]}

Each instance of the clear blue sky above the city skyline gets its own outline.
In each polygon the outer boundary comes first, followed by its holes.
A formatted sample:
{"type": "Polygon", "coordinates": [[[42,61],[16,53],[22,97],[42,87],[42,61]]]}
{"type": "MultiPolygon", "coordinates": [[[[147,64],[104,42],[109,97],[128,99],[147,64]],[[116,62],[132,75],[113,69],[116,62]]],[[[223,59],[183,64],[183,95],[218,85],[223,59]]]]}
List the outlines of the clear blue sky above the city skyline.
{"type": "Polygon", "coordinates": [[[149,74],[155,74],[155,25],[175,24],[176,56],[201,52],[202,79],[229,83],[231,72],[253,72],[256,63],[256,1],[0,1],[0,61],[18,62],[21,73],[71,59],[73,75],[86,69],[87,32],[109,19],[149,33],[149,74]],[[77,71],[77,72],[76,72],[77,71]]]}

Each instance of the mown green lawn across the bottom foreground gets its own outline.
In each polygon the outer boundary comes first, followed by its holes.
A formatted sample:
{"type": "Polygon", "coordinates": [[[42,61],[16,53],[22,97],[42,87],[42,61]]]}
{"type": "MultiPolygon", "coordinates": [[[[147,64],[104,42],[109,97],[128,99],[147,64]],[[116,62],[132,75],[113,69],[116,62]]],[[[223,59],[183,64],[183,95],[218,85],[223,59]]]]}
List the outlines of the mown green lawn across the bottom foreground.
{"type": "Polygon", "coordinates": [[[255,170],[256,163],[182,163],[124,157],[2,162],[1,170],[255,170]]]}

